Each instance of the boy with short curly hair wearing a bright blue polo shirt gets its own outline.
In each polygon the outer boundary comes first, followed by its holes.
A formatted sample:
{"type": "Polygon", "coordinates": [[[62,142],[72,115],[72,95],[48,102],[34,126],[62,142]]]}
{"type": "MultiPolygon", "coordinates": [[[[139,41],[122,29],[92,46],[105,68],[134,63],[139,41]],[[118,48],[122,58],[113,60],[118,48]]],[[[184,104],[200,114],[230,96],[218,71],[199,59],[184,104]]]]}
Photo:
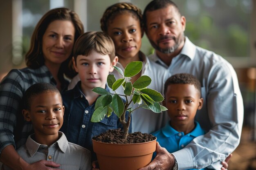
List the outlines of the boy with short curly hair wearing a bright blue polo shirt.
{"type": "MultiPolygon", "coordinates": [[[[204,130],[194,120],[197,110],[203,105],[201,84],[193,75],[175,74],[164,84],[163,105],[168,108],[170,121],[164,128],[153,132],[159,144],[172,153],[184,148],[195,137],[204,135],[204,130]]],[[[153,154],[153,158],[156,152],[153,154]]]]}

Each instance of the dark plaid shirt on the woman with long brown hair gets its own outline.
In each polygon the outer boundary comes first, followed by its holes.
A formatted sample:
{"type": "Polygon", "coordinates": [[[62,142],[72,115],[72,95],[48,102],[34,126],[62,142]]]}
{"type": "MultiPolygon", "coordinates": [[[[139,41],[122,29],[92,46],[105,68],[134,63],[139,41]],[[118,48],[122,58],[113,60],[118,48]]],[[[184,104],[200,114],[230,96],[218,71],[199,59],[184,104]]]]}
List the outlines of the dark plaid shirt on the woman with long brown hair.
{"type": "MultiPolygon", "coordinates": [[[[10,144],[19,148],[33,132],[31,122],[22,116],[22,97],[27,88],[39,82],[56,86],[45,65],[37,69],[13,69],[0,83],[0,152],[10,144]]],[[[62,84],[67,87],[68,82],[62,84]]]]}

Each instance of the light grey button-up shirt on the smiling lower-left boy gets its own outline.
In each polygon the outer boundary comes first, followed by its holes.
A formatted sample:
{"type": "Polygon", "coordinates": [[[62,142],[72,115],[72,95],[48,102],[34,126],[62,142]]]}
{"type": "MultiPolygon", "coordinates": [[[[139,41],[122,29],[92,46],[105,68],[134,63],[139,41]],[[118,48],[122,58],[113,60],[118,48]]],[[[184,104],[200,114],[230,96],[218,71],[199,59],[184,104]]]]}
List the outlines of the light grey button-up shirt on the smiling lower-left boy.
{"type": "MultiPolygon", "coordinates": [[[[63,170],[90,170],[91,152],[82,146],[67,141],[63,132],[58,132],[60,138],[51,146],[38,144],[29,135],[25,145],[21,146],[17,152],[27,163],[35,163],[40,160],[54,161],[61,164],[63,170]]],[[[4,165],[4,170],[11,168],[4,165]]]]}

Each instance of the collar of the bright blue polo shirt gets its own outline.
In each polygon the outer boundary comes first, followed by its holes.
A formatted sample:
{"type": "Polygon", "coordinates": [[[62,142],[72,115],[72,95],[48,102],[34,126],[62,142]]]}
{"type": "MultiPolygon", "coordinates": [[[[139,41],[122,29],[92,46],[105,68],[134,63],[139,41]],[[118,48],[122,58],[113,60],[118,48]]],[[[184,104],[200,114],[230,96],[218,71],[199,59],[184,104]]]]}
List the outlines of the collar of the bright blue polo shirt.
{"type": "MultiPolygon", "coordinates": [[[[173,127],[170,126],[169,122],[164,126],[164,128],[162,128],[162,132],[163,134],[166,136],[166,137],[171,137],[177,133],[180,133],[178,132],[177,130],[175,130],[173,127]]],[[[204,130],[202,130],[200,124],[195,121],[195,128],[192,132],[186,134],[188,136],[193,136],[193,137],[198,137],[200,135],[204,135],[205,132],[204,130]]]]}

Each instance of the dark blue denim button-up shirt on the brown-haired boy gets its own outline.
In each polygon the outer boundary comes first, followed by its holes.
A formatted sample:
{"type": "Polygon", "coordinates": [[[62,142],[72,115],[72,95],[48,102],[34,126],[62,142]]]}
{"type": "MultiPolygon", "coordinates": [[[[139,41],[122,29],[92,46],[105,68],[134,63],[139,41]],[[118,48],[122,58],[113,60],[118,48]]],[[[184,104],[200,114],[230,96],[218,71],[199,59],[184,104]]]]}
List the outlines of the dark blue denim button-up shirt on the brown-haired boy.
{"type": "MultiPolygon", "coordinates": [[[[106,90],[109,91],[106,86],[106,90]]],[[[62,131],[69,142],[78,144],[92,153],[92,160],[95,154],[92,149],[92,137],[105,132],[108,129],[121,128],[121,123],[115,113],[105,117],[100,122],[91,122],[95,102],[90,106],[85,95],[81,91],[81,81],[69,91],[62,94],[63,105],[65,106],[62,131]]]]}

